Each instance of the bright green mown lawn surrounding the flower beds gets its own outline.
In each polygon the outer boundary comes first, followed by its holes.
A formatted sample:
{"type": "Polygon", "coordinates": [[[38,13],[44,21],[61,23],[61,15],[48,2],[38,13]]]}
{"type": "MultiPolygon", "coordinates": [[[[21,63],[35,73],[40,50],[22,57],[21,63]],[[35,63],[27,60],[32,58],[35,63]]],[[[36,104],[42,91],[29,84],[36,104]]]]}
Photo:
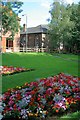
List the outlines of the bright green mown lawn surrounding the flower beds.
{"type": "Polygon", "coordinates": [[[78,63],[67,61],[47,53],[6,53],[2,54],[2,65],[33,68],[34,71],[2,77],[2,91],[21,86],[25,82],[57,75],[60,72],[80,76],[78,63]]]}

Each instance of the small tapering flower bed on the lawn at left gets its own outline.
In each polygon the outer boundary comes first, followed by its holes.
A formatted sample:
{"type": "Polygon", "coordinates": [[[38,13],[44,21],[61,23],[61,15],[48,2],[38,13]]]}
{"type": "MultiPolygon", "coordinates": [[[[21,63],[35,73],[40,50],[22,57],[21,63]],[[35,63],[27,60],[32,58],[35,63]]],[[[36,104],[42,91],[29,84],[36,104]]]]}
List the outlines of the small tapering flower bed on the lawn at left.
{"type": "Polygon", "coordinates": [[[13,66],[0,66],[0,75],[12,75],[15,73],[31,71],[33,69],[22,68],[22,67],[13,67],[13,66]]]}

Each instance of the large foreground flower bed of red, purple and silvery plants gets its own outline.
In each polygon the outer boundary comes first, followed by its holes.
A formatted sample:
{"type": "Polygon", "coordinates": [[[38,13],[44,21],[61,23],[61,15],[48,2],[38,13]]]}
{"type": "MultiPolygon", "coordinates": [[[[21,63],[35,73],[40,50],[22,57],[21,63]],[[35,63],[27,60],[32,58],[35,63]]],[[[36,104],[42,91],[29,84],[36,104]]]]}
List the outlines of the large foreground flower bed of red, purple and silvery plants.
{"type": "Polygon", "coordinates": [[[3,118],[38,120],[80,110],[80,78],[60,73],[3,94],[3,118]]]}

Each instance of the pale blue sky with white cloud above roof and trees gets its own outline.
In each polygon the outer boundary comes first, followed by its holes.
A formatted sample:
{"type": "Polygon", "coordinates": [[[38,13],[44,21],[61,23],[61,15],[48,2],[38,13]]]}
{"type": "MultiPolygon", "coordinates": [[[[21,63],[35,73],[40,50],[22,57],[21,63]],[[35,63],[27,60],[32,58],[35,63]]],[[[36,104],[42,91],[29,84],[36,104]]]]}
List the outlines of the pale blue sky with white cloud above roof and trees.
{"type": "MultiPolygon", "coordinates": [[[[68,4],[78,3],[80,0],[64,0],[68,4]]],[[[53,0],[22,0],[23,12],[19,14],[21,26],[27,23],[27,27],[35,27],[40,24],[48,24],[50,18],[50,5],[53,0]]]]}

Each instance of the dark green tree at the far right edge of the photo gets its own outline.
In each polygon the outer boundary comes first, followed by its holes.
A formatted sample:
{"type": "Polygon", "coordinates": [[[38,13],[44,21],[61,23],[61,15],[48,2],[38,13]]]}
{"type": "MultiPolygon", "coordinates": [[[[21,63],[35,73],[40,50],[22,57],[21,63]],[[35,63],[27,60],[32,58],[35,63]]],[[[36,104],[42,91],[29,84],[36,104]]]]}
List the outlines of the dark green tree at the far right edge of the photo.
{"type": "Polygon", "coordinates": [[[74,22],[75,27],[72,31],[72,51],[75,53],[80,52],[80,2],[72,6],[71,20],[74,22]]]}

